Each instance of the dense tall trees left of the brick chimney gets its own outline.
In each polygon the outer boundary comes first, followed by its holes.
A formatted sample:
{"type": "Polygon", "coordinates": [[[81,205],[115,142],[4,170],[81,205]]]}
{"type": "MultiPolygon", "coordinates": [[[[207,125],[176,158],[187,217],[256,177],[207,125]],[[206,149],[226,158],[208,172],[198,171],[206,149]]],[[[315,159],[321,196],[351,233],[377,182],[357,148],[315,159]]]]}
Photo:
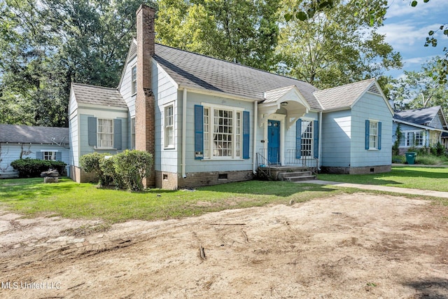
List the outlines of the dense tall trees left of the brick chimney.
{"type": "Polygon", "coordinates": [[[0,0],[0,122],[67,126],[71,82],[116,87],[140,4],[0,0]]]}

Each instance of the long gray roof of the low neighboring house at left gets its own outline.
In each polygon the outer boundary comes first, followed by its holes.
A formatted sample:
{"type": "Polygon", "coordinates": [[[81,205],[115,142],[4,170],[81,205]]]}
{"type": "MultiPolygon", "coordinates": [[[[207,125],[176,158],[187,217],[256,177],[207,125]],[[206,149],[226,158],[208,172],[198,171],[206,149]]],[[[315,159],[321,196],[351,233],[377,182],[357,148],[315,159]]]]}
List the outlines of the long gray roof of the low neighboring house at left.
{"type": "Polygon", "coordinates": [[[0,142],[24,144],[69,144],[68,127],[0,125],[0,142]]]}

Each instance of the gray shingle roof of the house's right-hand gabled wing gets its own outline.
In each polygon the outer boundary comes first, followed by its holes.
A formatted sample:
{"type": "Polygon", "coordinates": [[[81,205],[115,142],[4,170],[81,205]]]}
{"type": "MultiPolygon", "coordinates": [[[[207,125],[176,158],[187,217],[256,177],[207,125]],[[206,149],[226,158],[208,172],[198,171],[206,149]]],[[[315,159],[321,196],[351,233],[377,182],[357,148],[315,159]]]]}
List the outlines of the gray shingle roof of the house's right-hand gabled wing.
{"type": "Polygon", "coordinates": [[[372,78],[335,88],[318,90],[314,92],[314,96],[321,102],[325,110],[350,107],[374,81],[375,79],[372,78]]]}

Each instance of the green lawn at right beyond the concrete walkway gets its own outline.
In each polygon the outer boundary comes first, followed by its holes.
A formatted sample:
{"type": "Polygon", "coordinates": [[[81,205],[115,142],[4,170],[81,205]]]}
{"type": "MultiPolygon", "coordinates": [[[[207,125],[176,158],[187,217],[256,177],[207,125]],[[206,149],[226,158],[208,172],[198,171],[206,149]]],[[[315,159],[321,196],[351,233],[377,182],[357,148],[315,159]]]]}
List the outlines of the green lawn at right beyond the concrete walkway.
{"type": "Polygon", "coordinates": [[[448,192],[448,167],[392,167],[384,174],[319,174],[318,179],[448,192]]]}

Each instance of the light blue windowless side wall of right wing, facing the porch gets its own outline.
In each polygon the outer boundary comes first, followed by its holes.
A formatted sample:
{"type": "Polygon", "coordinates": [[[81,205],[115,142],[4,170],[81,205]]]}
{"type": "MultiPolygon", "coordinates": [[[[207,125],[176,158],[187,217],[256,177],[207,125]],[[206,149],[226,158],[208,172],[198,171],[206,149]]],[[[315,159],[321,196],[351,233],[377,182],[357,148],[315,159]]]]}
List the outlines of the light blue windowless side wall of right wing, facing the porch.
{"type": "MultiPolygon", "coordinates": [[[[349,167],[352,133],[351,111],[323,113],[322,118],[322,166],[349,167]]],[[[363,145],[362,141],[361,146],[363,145]]]]}

